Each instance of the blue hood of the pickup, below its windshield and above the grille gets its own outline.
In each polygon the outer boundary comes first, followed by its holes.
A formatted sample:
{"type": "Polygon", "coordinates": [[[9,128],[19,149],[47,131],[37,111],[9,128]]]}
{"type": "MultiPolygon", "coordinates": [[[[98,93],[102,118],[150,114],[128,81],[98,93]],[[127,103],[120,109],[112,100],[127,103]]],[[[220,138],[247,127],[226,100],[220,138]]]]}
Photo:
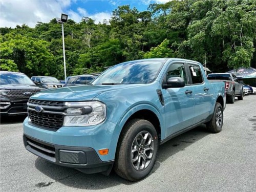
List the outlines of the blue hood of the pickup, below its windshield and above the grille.
{"type": "Polygon", "coordinates": [[[30,98],[51,101],[88,101],[92,100],[102,92],[137,86],[143,86],[143,84],[120,84],[115,86],[73,86],[41,91],[30,98]]]}

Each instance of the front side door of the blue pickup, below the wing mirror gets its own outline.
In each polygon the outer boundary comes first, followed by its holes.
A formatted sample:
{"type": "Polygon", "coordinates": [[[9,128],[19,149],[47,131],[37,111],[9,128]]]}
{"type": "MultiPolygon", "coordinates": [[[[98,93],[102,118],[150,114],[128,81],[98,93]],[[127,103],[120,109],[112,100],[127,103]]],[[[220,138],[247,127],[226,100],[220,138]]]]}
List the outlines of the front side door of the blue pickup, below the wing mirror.
{"type": "Polygon", "coordinates": [[[181,77],[185,81],[183,88],[168,88],[162,90],[165,108],[166,135],[168,137],[182,131],[194,119],[194,95],[185,70],[185,63],[175,62],[168,67],[164,81],[170,77],[181,77]]]}

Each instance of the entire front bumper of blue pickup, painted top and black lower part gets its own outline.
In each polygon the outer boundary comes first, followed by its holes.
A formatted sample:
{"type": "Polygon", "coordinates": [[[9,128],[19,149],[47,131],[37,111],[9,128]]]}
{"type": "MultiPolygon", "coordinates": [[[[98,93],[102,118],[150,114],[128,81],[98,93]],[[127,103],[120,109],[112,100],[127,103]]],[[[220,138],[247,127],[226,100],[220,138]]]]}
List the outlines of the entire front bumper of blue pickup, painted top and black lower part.
{"type": "Polygon", "coordinates": [[[105,120],[95,126],[62,126],[57,131],[41,129],[29,122],[23,123],[26,149],[52,163],[79,169],[84,173],[108,172],[112,167],[119,127],[105,120]],[[99,150],[108,148],[108,155],[99,150]]]}

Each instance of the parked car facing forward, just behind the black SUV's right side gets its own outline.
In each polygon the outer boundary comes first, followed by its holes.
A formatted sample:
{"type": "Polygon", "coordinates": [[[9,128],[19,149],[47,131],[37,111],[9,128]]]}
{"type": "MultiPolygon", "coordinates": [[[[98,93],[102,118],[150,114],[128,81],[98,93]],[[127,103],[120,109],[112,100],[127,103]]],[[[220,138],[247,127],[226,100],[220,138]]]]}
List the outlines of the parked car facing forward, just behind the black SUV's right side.
{"type": "Polygon", "coordinates": [[[33,76],[31,80],[40,88],[53,89],[64,87],[63,83],[60,83],[58,79],[50,76],[33,76]]]}

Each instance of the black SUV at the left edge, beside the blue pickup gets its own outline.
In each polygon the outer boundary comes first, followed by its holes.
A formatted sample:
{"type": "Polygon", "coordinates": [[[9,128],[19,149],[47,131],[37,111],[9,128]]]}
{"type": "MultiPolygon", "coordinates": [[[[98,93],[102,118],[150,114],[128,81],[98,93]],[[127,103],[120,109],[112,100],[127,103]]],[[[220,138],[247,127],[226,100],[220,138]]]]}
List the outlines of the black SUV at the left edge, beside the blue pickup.
{"type": "Polygon", "coordinates": [[[27,102],[38,88],[24,73],[0,71],[0,114],[26,115],[27,102]]]}

